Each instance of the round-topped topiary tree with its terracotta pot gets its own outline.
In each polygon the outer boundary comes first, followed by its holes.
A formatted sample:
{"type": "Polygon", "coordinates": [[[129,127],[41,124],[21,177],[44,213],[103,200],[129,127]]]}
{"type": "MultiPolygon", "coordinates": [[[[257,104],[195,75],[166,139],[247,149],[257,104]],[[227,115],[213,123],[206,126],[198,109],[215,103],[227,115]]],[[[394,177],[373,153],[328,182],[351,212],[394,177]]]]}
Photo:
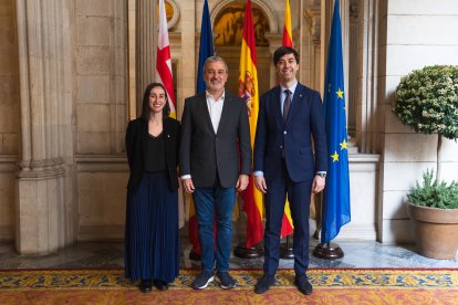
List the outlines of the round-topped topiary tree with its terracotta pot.
{"type": "Polygon", "coordinates": [[[417,133],[437,133],[437,170],[424,173],[423,183],[407,194],[421,255],[454,259],[458,249],[458,183],[441,181],[443,137],[458,138],[458,66],[415,70],[400,80],[393,113],[417,133]]]}

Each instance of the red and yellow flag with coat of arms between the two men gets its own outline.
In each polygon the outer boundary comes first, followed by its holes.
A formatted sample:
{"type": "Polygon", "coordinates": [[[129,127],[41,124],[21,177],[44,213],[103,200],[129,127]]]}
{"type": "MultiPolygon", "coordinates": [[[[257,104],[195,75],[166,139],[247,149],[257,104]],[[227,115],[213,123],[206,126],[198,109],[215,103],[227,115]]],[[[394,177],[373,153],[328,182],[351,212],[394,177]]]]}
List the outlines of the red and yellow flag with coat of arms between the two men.
{"type": "MultiPolygon", "coordinates": [[[[244,10],[239,73],[239,96],[247,102],[251,146],[253,146],[259,113],[259,92],[253,18],[250,0],[247,0],[244,10]]],[[[262,227],[262,193],[254,187],[252,175],[241,197],[243,199],[243,211],[247,213],[247,248],[252,248],[262,240],[264,232],[262,227]]]]}

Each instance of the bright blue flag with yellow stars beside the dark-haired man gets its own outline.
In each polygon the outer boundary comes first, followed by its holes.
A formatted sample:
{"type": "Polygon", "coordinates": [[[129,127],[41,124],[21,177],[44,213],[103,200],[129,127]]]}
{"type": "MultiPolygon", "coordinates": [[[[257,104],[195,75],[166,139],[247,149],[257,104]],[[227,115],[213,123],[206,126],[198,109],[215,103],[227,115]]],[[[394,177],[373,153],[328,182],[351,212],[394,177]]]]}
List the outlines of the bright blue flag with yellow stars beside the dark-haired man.
{"type": "Polygon", "coordinates": [[[339,0],[334,4],[324,92],[327,176],[322,209],[321,243],[333,240],[350,222],[348,150],[339,0]]]}

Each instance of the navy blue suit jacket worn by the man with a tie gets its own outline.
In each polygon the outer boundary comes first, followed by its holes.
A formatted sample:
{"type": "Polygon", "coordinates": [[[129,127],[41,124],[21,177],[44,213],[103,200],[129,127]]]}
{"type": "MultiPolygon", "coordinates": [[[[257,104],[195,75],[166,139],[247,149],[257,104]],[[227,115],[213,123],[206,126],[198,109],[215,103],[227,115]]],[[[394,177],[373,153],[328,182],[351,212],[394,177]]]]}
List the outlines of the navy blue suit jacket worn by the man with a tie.
{"type": "Polygon", "coordinates": [[[280,86],[261,96],[253,170],[263,171],[269,180],[279,177],[284,150],[287,170],[294,182],[312,179],[316,171],[326,171],[326,136],[320,94],[298,83],[287,123],[283,123],[280,107],[280,86]]]}

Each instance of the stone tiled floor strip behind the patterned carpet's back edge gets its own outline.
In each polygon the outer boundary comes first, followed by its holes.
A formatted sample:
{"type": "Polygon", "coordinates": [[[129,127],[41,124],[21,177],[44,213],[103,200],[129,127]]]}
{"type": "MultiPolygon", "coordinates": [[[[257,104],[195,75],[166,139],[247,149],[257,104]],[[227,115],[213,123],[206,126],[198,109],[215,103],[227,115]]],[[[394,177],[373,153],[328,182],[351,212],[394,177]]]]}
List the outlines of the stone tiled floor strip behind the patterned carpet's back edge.
{"type": "MultiPolygon", "coordinates": [[[[235,222],[233,245],[243,240],[244,227],[235,222]]],[[[181,229],[183,267],[199,267],[200,263],[190,261],[190,244],[187,229],[181,229]]],[[[312,252],[316,240],[311,239],[312,252]]],[[[433,260],[414,252],[414,245],[389,245],[373,241],[342,241],[339,245],[345,255],[337,260],[322,260],[310,256],[310,267],[458,267],[458,255],[455,260],[433,260]]],[[[0,244],[0,269],[80,269],[80,267],[123,267],[123,242],[79,242],[58,253],[44,256],[20,256],[13,244],[0,244]]],[[[263,259],[239,259],[231,255],[231,269],[262,269],[263,259]]],[[[281,260],[280,267],[293,267],[293,260],[281,260]]]]}

